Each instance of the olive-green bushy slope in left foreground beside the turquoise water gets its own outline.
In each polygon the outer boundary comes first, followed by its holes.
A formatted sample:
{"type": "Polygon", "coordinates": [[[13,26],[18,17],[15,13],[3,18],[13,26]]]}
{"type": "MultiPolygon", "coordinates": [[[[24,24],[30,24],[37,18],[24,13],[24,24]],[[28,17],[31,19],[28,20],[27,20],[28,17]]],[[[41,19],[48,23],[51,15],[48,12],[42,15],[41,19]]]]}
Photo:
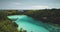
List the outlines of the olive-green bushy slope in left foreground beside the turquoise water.
{"type": "Polygon", "coordinates": [[[5,12],[0,11],[0,32],[18,32],[18,25],[7,18],[5,12]]]}

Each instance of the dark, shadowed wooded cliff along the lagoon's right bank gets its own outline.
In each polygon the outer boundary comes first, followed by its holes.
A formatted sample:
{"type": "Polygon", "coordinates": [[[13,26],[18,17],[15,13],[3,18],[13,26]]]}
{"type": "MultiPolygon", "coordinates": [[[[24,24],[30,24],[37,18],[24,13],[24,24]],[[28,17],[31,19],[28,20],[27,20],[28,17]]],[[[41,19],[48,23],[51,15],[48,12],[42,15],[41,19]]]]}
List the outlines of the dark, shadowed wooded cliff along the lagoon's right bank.
{"type": "Polygon", "coordinates": [[[60,24],[60,9],[28,10],[24,14],[43,22],[60,24]]]}

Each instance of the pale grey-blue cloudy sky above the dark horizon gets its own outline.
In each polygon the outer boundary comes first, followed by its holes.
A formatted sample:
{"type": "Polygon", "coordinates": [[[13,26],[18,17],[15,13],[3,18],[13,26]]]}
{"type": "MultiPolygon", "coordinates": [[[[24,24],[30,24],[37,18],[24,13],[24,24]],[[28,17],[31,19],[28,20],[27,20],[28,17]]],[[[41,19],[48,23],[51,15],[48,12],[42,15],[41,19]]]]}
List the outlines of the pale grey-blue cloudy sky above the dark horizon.
{"type": "Polygon", "coordinates": [[[60,8],[60,0],[0,0],[0,9],[60,8]]]}

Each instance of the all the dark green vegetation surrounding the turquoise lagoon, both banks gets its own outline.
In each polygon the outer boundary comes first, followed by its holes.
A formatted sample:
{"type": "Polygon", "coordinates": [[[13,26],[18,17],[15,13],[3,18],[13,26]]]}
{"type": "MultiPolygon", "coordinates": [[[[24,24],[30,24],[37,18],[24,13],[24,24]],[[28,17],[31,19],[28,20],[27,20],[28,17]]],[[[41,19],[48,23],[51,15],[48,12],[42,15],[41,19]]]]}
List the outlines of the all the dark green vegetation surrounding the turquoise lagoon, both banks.
{"type": "MultiPolygon", "coordinates": [[[[8,15],[27,15],[36,20],[60,25],[60,9],[23,10],[23,12],[18,10],[0,10],[0,32],[18,32],[18,25],[8,19],[8,15]]],[[[21,28],[19,32],[27,31],[22,31],[21,28]]]]}

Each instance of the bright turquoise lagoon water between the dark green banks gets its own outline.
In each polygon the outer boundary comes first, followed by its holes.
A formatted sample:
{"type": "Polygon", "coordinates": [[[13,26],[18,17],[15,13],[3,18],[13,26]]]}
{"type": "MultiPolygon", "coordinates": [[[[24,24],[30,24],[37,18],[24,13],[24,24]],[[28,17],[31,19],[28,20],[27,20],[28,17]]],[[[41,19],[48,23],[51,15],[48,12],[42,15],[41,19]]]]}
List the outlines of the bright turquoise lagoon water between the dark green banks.
{"type": "Polygon", "coordinates": [[[28,17],[26,15],[12,15],[12,16],[8,16],[8,18],[18,24],[18,30],[20,28],[23,28],[27,30],[28,32],[31,32],[31,31],[49,32],[49,30],[52,31],[52,29],[54,30],[54,28],[56,28],[53,25],[43,23],[42,21],[34,20],[33,18],[28,17]]]}

